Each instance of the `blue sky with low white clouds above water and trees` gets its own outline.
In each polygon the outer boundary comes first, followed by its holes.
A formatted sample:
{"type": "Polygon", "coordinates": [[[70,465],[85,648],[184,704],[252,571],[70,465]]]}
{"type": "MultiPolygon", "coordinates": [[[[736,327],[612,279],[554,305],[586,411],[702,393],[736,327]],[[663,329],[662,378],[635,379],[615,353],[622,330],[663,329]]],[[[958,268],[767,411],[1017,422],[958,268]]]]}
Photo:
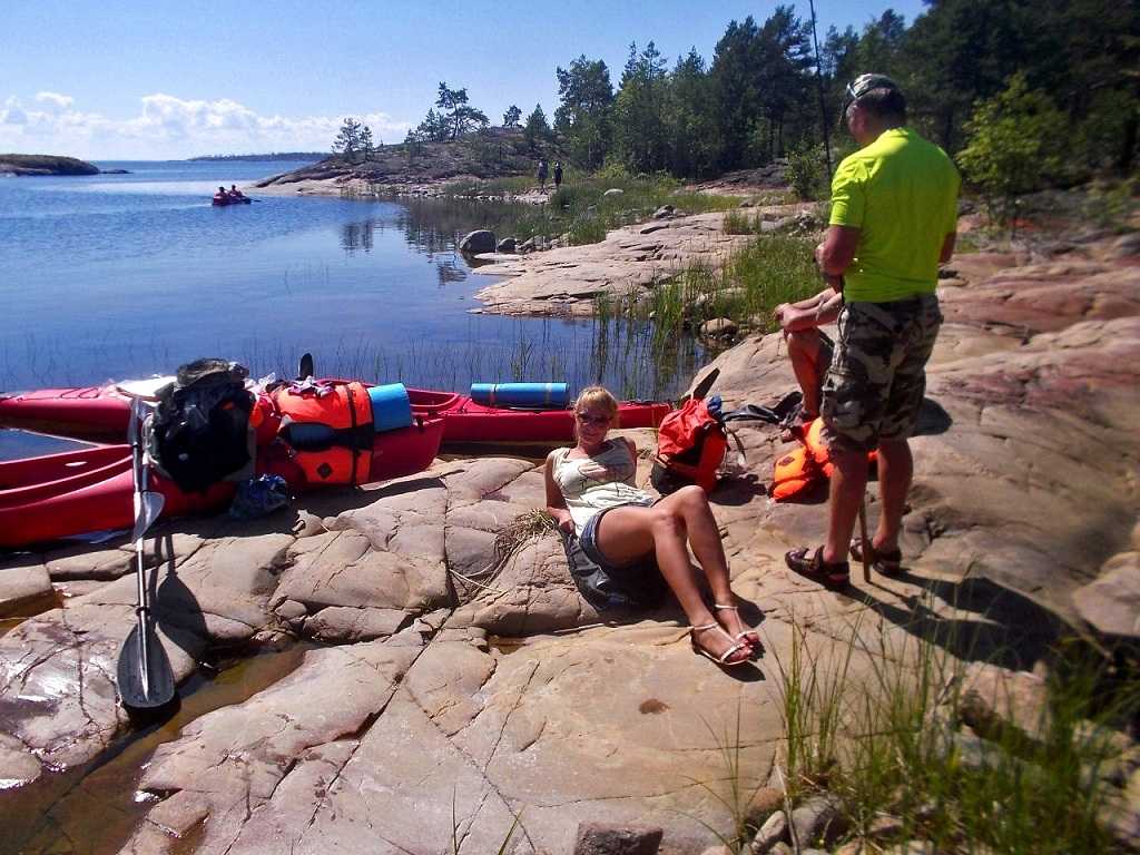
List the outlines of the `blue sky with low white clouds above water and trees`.
{"type": "MultiPolygon", "coordinates": [[[[402,141],[441,81],[492,123],[557,106],[555,68],[603,59],[617,87],[630,42],[711,62],[730,21],[775,2],[736,0],[8,0],[0,6],[0,152],[84,160],[327,150],[344,116],[402,141]]],[[[921,0],[817,0],[861,30],[921,0]]],[[[807,0],[796,13],[808,17],[807,0]]]]}

